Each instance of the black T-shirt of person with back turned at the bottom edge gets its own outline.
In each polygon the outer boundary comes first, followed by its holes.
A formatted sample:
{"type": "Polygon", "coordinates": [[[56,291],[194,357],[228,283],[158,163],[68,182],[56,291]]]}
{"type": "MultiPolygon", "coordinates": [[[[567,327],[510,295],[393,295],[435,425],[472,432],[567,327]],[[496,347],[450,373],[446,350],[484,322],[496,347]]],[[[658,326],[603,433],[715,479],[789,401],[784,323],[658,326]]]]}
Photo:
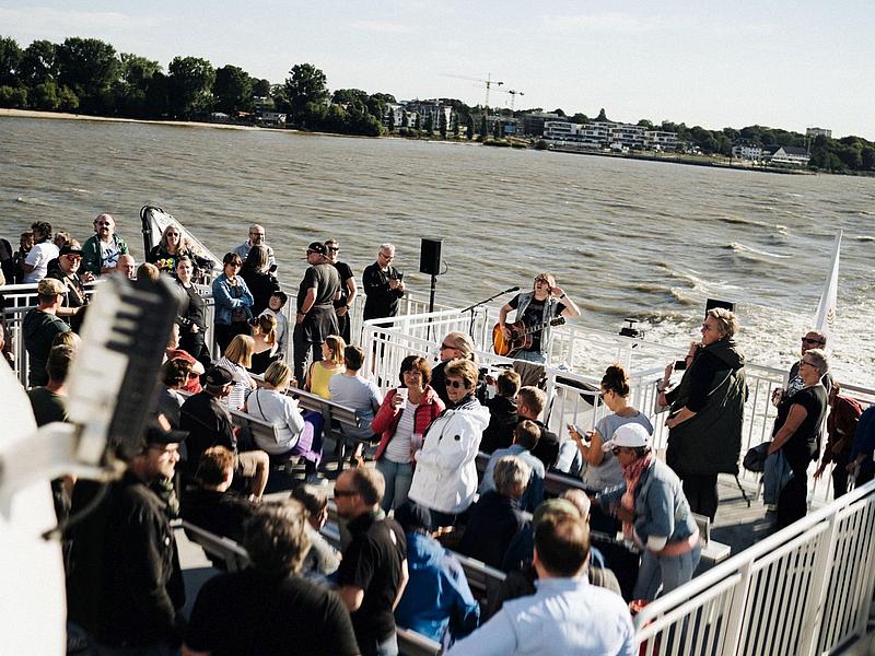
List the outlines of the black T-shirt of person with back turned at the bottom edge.
{"type": "Polygon", "coordinates": [[[359,654],[340,598],[298,576],[256,570],[215,576],[200,589],[185,644],[213,656],[359,654]]]}

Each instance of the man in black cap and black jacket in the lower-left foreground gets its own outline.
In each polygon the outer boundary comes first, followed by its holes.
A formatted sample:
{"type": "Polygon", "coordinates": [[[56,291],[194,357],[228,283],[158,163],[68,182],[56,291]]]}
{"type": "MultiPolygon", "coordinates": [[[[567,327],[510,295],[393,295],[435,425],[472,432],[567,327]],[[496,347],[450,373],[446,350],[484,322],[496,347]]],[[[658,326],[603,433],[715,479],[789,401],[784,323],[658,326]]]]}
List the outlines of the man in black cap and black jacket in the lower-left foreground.
{"type": "MultiPolygon", "coordinates": [[[[167,425],[148,430],[121,479],[71,529],[69,617],[100,654],[170,654],[179,645],[185,599],[170,586],[176,541],[164,503],[150,489],[173,478],[186,437],[167,425]]],[[[77,484],[73,515],[92,502],[95,488],[92,481],[77,484]]]]}

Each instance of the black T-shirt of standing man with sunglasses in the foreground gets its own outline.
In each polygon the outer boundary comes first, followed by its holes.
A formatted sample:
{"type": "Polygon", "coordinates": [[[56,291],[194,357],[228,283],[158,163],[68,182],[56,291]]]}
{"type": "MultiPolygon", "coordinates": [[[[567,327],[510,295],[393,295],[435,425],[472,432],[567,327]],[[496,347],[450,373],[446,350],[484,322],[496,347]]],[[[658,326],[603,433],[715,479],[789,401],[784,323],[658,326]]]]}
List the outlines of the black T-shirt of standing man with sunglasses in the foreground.
{"type": "Polygon", "coordinates": [[[355,637],[365,649],[395,632],[392,605],[401,584],[407,542],[395,519],[377,519],[372,513],[357,517],[348,528],[352,541],[340,561],[337,584],[364,590],[362,605],[351,617],[355,637]]]}

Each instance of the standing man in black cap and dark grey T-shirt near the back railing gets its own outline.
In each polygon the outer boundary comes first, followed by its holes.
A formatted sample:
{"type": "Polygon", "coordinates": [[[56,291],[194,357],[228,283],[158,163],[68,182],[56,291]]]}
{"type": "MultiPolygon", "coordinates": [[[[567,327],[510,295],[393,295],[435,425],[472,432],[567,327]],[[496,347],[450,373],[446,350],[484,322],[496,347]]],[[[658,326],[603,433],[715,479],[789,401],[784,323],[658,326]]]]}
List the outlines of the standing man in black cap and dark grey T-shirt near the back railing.
{"type": "Polygon", "coordinates": [[[339,335],[334,302],[340,297],[340,276],[327,258],[320,242],[307,247],[310,267],[298,288],[298,314],[293,335],[294,377],[299,384],[311,362],[322,360],[322,344],[329,335],[339,335]]]}

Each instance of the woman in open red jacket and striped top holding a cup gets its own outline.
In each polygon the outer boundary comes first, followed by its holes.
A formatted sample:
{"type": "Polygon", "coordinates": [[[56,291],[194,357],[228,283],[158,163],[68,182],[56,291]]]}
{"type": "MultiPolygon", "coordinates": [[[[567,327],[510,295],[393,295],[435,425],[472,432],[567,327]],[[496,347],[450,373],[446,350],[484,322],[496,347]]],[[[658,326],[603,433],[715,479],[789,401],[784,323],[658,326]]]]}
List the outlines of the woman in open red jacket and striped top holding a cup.
{"type": "Polygon", "coordinates": [[[413,453],[422,436],[443,411],[444,402],[432,389],[431,366],[424,358],[408,355],[401,361],[401,386],[389,389],[371,427],[378,433],[376,468],[386,479],[381,505],[388,512],[407,501],[413,479],[413,453]]]}

